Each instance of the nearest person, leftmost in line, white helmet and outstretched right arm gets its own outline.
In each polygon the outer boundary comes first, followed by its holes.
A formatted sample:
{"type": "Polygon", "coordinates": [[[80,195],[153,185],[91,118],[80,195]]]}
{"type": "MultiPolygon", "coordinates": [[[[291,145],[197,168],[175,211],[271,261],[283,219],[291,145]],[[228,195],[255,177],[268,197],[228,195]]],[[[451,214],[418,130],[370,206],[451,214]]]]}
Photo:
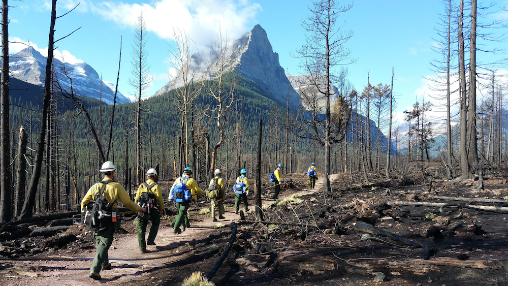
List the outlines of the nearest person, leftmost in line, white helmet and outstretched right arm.
{"type": "Polygon", "coordinates": [[[116,211],[118,206],[116,200],[120,200],[124,206],[135,212],[146,212],[146,208],[136,205],[131,198],[125,192],[125,189],[117,182],[113,181],[115,176],[115,164],[110,161],[105,162],[102,165],[100,172],[104,174],[102,181],[94,183],[85,194],[85,197],[81,201],[81,209],[85,209],[85,205],[89,202],[94,202],[97,196],[103,196],[108,201],[108,205],[112,205],[111,219],[108,216],[108,223],[105,228],[100,231],[93,232],[93,239],[96,242],[96,256],[93,258],[92,265],[90,267],[90,275],[88,277],[94,280],[101,279],[101,270],[107,270],[111,268],[109,263],[108,249],[113,242],[113,233],[115,232],[116,222],[116,211]]]}

